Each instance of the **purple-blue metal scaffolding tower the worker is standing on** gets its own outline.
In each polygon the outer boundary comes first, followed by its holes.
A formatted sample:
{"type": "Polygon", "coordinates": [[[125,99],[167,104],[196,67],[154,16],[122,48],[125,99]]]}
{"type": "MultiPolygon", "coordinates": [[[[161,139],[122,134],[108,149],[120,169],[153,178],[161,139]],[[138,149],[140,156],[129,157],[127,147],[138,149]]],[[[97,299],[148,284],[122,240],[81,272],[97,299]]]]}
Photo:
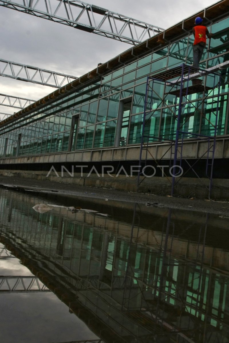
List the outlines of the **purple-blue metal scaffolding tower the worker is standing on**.
{"type": "MultiPolygon", "coordinates": [[[[222,63],[224,64],[224,63],[222,63]]],[[[225,64],[227,67],[228,63],[225,64]]],[[[222,66],[222,67],[225,67],[222,66]]],[[[203,185],[208,189],[209,199],[210,193],[212,188],[212,180],[213,180],[213,165],[214,165],[214,157],[215,157],[215,147],[216,147],[216,135],[217,135],[217,125],[218,125],[218,112],[219,112],[219,101],[220,101],[220,86],[221,86],[221,74],[217,70],[222,68],[221,65],[218,65],[213,68],[209,69],[196,69],[192,66],[187,66],[186,64],[182,64],[181,66],[169,69],[167,71],[163,71],[161,73],[148,76],[147,77],[147,84],[146,84],[146,94],[145,94],[145,103],[144,103],[144,115],[142,121],[142,136],[141,136],[141,145],[140,145],[140,154],[139,154],[139,171],[138,171],[138,178],[137,178],[137,186],[139,187],[141,182],[146,178],[146,175],[141,172],[142,162],[146,166],[147,165],[147,157],[148,154],[150,157],[155,161],[155,163],[159,166],[159,162],[163,159],[163,157],[168,154],[170,151],[170,163],[169,167],[170,170],[172,169],[173,172],[170,174],[172,177],[172,181],[168,178],[168,176],[164,173],[164,169],[160,168],[163,175],[167,177],[169,182],[171,183],[171,196],[174,195],[174,187],[179,182],[179,180],[190,170],[194,172],[196,177],[201,180],[203,185]],[[203,81],[198,79],[198,77],[203,77],[203,81]],[[207,80],[208,78],[208,80],[207,80]],[[175,80],[174,80],[175,79],[175,80]],[[210,79],[210,82],[209,82],[210,79]],[[192,85],[191,85],[192,82],[192,85]],[[204,84],[202,85],[202,82],[204,84]],[[207,85],[210,83],[210,87],[207,85]],[[156,85],[159,84],[163,87],[163,97],[157,93],[156,85]],[[186,85],[185,85],[186,84],[186,85]],[[166,87],[169,87],[169,91],[166,91],[166,87]],[[191,94],[202,93],[195,100],[189,100],[188,96],[191,94]],[[160,99],[160,103],[157,104],[155,100],[155,94],[157,96],[157,100],[160,99]],[[167,105],[166,97],[168,95],[175,96],[174,102],[172,105],[167,105]],[[204,102],[208,97],[212,97],[213,100],[216,101],[216,106],[214,107],[214,101],[211,102],[211,112],[215,115],[214,122],[211,122],[206,118],[203,113],[203,106],[204,102]],[[198,128],[198,132],[189,131],[188,129],[184,129],[186,123],[191,116],[195,115],[192,113],[185,114],[185,106],[191,104],[193,106],[194,103],[198,102],[198,106],[194,105],[195,111],[200,112],[200,121],[203,118],[207,120],[209,126],[211,127],[209,134],[201,134],[198,128]],[[154,106],[157,104],[157,106],[154,106]],[[147,134],[146,132],[146,123],[147,121],[154,115],[154,113],[159,110],[163,111],[161,108],[163,105],[166,109],[171,110],[171,122],[174,120],[174,132],[172,132],[172,137],[167,137],[168,132],[164,132],[162,134],[158,134],[158,137],[155,135],[147,134]],[[201,110],[199,110],[201,108],[201,110]],[[212,132],[212,134],[211,134],[212,132]],[[195,141],[205,141],[207,143],[207,148],[205,152],[198,157],[197,160],[193,164],[190,164],[187,161],[187,158],[183,156],[183,146],[184,140],[193,138],[195,141]],[[159,160],[154,158],[151,152],[149,151],[149,147],[152,146],[150,144],[154,142],[156,144],[160,143],[167,143],[168,150],[165,151],[163,156],[160,157],[159,160]],[[143,151],[146,150],[146,156],[143,159],[142,154],[143,151]],[[205,157],[204,157],[205,156],[205,157]],[[201,177],[198,175],[197,171],[195,170],[196,163],[203,159],[206,160],[206,170],[205,175],[209,179],[208,187],[204,184],[201,177]],[[182,169],[182,162],[187,163],[187,170],[183,173],[182,169]],[[140,176],[144,175],[140,180],[140,176]],[[178,178],[178,179],[177,179],[178,178]]],[[[162,118],[162,115],[161,115],[162,118]]],[[[165,116],[165,119],[168,118],[168,115],[165,116]]],[[[160,119],[162,120],[162,119],[160,119]]],[[[159,124],[159,128],[161,129],[161,121],[159,124]]],[[[170,134],[171,135],[171,134],[170,134]]],[[[159,166],[161,167],[161,166],[159,166]]],[[[154,168],[155,169],[155,168],[154,168]]]]}

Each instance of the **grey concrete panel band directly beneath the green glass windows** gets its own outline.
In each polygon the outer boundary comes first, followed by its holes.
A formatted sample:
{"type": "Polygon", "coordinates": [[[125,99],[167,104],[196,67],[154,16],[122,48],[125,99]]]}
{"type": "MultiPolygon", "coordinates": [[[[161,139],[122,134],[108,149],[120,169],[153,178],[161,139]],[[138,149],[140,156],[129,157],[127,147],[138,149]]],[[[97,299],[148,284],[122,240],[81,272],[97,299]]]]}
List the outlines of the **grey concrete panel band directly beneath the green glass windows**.
{"type": "MultiPolygon", "coordinates": [[[[210,145],[213,141],[210,142],[210,145]]],[[[184,141],[183,158],[206,158],[207,141],[188,139],[184,141]]],[[[153,144],[148,147],[148,159],[170,159],[171,145],[168,143],[153,144]]],[[[174,149],[173,149],[174,150],[174,149]]],[[[179,151],[181,148],[179,147],[179,151]]],[[[131,161],[139,160],[140,145],[124,146],[118,148],[93,149],[74,152],[60,152],[43,155],[28,155],[19,157],[0,158],[0,164],[11,163],[60,163],[60,162],[105,162],[105,161],[131,161]]],[[[142,152],[142,159],[146,157],[146,150],[142,152]]],[[[209,155],[211,157],[211,153],[209,155]]],[[[178,153],[180,158],[180,153],[178,153]]],[[[229,137],[220,136],[217,138],[215,158],[229,158],[229,137]]]]}

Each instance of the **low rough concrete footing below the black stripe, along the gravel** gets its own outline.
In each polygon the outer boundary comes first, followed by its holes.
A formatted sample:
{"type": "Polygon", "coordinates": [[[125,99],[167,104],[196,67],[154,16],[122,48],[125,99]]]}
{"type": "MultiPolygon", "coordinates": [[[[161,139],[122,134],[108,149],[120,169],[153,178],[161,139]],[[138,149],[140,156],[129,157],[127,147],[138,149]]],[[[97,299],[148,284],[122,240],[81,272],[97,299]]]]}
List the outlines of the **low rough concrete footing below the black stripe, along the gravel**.
{"type": "MultiPolygon", "coordinates": [[[[11,177],[23,177],[34,180],[61,182],[66,184],[74,184],[80,186],[105,187],[114,188],[128,192],[151,193],[161,196],[171,194],[172,178],[167,177],[151,177],[141,178],[141,183],[137,187],[137,176],[126,177],[125,175],[109,176],[104,174],[104,177],[99,177],[96,174],[75,173],[70,175],[67,172],[55,174],[51,171],[47,177],[47,171],[29,171],[29,170],[0,170],[0,175],[11,177]]],[[[208,199],[209,179],[207,178],[181,178],[176,179],[178,182],[174,187],[174,196],[184,198],[208,199]]],[[[213,179],[210,199],[213,200],[229,200],[229,179],[213,179]]]]}

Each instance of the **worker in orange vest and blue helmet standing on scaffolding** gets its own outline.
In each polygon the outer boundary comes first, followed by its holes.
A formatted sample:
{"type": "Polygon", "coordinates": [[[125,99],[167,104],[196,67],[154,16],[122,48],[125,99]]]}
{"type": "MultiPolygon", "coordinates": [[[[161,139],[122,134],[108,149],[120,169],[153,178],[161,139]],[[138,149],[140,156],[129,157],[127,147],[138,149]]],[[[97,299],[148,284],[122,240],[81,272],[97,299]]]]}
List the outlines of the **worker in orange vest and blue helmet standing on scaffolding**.
{"type": "Polygon", "coordinates": [[[195,25],[193,27],[193,34],[195,37],[193,43],[193,67],[198,68],[199,62],[204,52],[204,48],[206,46],[206,36],[208,38],[212,37],[212,34],[208,32],[206,26],[202,25],[203,19],[201,17],[197,17],[195,19],[195,25]]]}

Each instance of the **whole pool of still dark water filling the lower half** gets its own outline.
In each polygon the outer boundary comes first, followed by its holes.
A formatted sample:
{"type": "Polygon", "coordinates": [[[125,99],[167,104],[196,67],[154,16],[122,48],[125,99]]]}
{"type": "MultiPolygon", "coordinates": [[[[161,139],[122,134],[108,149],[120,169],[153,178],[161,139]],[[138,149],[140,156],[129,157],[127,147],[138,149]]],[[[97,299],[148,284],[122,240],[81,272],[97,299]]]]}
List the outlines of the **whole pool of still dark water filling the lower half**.
{"type": "Polygon", "coordinates": [[[227,218],[4,189],[0,210],[2,341],[229,342],[227,218]]]}

